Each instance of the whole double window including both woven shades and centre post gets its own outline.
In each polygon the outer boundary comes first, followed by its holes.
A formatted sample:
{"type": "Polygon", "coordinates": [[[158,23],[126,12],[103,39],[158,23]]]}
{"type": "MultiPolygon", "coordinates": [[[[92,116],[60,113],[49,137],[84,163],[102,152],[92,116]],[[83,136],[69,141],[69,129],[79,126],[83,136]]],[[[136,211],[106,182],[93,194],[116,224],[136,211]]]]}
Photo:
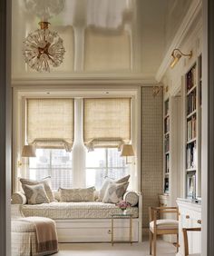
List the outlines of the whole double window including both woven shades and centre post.
{"type": "Polygon", "coordinates": [[[53,190],[99,190],[106,176],[130,172],[120,149],[131,139],[131,98],[27,99],[25,129],[26,142],[37,148],[25,173],[33,180],[51,176],[53,190]]]}

